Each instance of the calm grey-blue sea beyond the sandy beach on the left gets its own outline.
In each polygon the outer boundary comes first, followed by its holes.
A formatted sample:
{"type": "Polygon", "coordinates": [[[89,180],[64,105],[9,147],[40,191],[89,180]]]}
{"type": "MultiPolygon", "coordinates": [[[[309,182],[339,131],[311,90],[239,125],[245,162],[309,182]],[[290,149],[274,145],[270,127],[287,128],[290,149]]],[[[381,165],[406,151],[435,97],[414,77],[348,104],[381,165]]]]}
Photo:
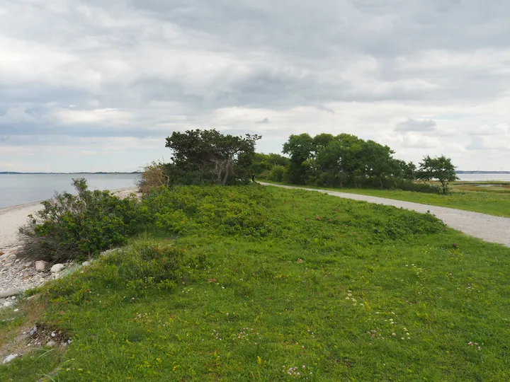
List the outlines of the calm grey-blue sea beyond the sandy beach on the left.
{"type": "Polygon", "coordinates": [[[136,174],[0,174],[0,208],[50,199],[55,191],[73,192],[73,179],[85,178],[91,190],[135,187],[136,174]]]}

